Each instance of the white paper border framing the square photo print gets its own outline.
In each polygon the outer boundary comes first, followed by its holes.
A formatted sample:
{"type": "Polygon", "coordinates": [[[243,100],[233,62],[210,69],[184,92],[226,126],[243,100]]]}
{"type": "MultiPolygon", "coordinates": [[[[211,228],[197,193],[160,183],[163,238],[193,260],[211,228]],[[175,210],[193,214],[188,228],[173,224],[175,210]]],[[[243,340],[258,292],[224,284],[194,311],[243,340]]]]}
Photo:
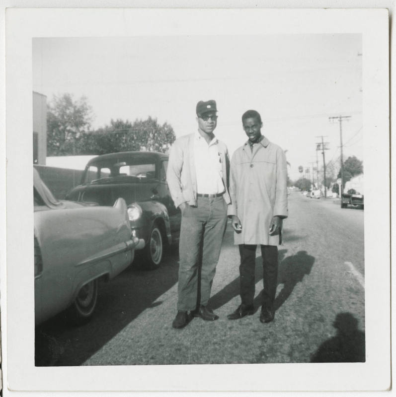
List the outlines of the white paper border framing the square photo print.
{"type": "Polygon", "coordinates": [[[369,391],[391,386],[387,9],[8,8],[5,19],[6,370],[10,390],[369,391]],[[29,200],[32,39],[302,33],[361,33],[363,37],[364,165],[365,179],[370,181],[366,182],[364,213],[366,362],[34,367],[33,203],[29,200]]]}

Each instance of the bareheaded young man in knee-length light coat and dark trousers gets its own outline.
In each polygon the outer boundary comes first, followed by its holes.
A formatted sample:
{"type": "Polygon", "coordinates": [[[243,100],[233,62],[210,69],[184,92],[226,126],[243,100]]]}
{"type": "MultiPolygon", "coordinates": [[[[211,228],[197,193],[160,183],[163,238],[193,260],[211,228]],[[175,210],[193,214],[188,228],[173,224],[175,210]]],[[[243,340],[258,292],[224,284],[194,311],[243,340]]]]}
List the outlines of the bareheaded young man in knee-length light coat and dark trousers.
{"type": "Polygon", "coordinates": [[[261,134],[261,117],[255,110],[242,115],[248,140],[231,160],[228,215],[240,253],[240,298],[237,310],[227,317],[237,320],[254,313],[254,268],[256,246],[263,261],[260,321],[274,319],[278,277],[278,244],[282,242],[282,221],[287,217],[287,163],[284,151],[261,134]]]}

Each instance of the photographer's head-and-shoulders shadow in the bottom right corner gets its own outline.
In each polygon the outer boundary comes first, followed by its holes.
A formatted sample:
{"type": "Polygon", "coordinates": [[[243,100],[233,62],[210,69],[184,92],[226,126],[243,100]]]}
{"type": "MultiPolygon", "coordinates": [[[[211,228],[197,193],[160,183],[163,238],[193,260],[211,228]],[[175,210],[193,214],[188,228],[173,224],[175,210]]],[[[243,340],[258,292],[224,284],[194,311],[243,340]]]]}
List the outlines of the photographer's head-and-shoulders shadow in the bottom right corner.
{"type": "Polygon", "coordinates": [[[355,363],[366,361],[365,333],[351,313],[338,313],[333,327],[337,334],[324,341],[311,358],[312,363],[355,363]]]}

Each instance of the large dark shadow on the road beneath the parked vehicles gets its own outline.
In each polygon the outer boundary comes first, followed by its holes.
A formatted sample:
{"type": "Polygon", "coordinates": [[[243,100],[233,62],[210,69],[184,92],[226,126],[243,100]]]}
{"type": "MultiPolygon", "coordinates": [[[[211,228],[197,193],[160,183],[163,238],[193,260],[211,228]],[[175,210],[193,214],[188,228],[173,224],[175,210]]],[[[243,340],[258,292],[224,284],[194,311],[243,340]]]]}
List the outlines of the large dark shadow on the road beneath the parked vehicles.
{"type": "Polygon", "coordinates": [[[156,270],[130,266],[108,283],[99,283],[96,311],[83,326],[74,326],[65,312],[35,330],[36,366],[81,365],[138,317],[158,306],[159,296],[177,282],[178,253],[172,248],[156,270]]]}

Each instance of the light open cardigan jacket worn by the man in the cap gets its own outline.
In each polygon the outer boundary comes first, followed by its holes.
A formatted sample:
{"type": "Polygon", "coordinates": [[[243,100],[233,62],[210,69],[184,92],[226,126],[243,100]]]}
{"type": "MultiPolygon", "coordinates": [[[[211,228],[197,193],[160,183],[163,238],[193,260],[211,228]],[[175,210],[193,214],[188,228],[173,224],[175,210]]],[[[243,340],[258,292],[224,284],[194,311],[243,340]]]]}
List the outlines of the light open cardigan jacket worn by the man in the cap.
{"type": "MultiPolygon", "coordinates": [[[[166,181],[176,207],[183,202],[197,205],[198,192],[194,159],[194,136],[195,133],[181,136],[173,142],[170,148],[166,181]]],[[[230,204],[231,199],[228,190],[230,157],[225,143],[218,140],[217,145],[222,162],[221,177],[226,189],[223,197],[226,203],[230,204]]]]}

